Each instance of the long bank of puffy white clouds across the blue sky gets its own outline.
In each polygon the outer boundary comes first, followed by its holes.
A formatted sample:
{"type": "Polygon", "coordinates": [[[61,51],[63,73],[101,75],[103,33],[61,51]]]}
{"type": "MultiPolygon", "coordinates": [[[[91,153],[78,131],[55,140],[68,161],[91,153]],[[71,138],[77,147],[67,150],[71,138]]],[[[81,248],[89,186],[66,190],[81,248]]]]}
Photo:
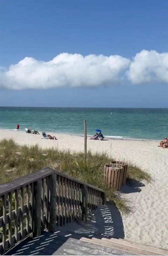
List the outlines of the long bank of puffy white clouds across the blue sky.
{"type": "Polygon", "coordinates": [[[142,50],[131,61],[119,55],[61,53],[48,62],[26,57],[8,69],[0,68],[0,86],[8,89],[96,87],[132,83],[167,82],[168,53],[142,50]]]}

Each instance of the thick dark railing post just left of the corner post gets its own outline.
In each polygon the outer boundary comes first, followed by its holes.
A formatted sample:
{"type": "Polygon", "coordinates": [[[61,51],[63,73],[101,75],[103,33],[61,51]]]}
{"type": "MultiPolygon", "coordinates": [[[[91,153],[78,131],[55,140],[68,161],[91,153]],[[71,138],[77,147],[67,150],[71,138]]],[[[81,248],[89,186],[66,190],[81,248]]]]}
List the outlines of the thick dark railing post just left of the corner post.
{"type": "Polygon", "coordinates": [[[42,208],[42,180],[34,183],[34,216],[33,216],[33,237],[41,235],[41,208],[42,208]]]}

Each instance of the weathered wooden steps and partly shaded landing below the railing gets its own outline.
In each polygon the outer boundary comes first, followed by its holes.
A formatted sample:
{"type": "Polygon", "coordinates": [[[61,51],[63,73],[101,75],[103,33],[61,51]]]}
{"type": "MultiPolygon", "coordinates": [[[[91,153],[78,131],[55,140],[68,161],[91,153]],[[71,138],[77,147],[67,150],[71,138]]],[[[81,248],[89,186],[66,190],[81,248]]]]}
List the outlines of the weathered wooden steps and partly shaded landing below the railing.
{"type": "Polygon", "coordinates": [[[168,255],[168,250],[125,239],[42,231],[40,237],[26,238],[6,255],[168,255]]]}

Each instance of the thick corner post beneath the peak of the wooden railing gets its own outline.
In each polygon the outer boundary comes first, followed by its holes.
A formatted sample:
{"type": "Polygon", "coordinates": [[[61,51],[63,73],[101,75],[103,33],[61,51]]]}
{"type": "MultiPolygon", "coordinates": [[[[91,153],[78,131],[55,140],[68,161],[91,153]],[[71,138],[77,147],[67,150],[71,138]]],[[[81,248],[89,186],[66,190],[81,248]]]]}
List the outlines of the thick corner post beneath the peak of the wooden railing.
{"type": "Polygon", "coordinates": [[[49,190],[50,190],[50,198],[49,198],[48,231],[53,233],[56,231],[56,174],[55,173],[49,176],[49,190]]]}

